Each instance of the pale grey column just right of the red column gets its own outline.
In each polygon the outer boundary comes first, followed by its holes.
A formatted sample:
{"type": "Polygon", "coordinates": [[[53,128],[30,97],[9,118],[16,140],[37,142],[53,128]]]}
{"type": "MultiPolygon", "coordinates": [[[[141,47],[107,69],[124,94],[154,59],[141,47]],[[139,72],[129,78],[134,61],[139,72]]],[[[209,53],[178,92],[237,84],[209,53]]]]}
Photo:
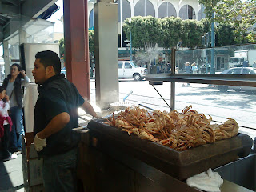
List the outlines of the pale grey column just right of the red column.
{"type": "Polygon", "coordinates": [[[118,4],[94,4],[96,102],[102,109],[119,102],[118,4]]]}

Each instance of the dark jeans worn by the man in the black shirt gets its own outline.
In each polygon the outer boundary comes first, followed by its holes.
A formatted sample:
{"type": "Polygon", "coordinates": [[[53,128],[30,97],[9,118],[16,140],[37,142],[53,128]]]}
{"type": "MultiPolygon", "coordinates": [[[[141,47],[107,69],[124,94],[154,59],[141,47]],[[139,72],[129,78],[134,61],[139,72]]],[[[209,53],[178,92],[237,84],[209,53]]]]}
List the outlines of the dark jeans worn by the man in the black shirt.
{"type": "Polygon", "coordinates": [[[46,192],[77,191],[78,148],[43,157],[42,178],[46,192]]]}

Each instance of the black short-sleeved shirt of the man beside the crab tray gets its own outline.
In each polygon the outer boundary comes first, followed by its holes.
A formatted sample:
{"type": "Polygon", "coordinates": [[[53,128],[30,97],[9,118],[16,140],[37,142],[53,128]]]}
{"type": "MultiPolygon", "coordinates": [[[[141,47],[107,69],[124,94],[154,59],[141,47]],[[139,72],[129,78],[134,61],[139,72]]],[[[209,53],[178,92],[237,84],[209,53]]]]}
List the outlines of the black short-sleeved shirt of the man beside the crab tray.
{"type": "Polygon", "coordinates": [[[58,74],[49,78],[42,86],[38,86],[38,100],[34,107],[34,135],[43,130],[56,115],[66,112],[70,114],[70,122],[57,133],[46,138],[47,146],[39,156],[61,154],[76,147],[78,134],[72,129],[78,127],[78,107],[84,99],[71,82],[58,74]]]}

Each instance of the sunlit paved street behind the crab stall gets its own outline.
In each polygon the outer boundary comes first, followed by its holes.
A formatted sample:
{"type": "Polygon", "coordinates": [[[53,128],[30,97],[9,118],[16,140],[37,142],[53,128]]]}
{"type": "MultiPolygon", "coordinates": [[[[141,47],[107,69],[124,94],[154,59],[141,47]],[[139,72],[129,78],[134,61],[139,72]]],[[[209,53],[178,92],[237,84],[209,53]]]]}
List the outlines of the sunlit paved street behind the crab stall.
{"type": "MultiPolygon", "coordinates": [[[[239,126],[247,126],[256,129],[256,93],[235,92],[230,90],[221,93],[214,86],[190,83],[189,87],[182,87],[182,83],[176,83],[175,109],[181,112],[186,106],[193,106],[199,113],[209,114],[213,120],[226,121],[226,118],[234,118],[239,126]]],[[[162,86],[155,86],[166,102],[170,104],[170,82],[164,82],[162,86]]],[[[95,81],[90,80],[91,101],[95,101],[95,81]]],[[[147,81],[135,82],[133,79],[119,79],[119,98],[122,98],[133,90],[126,102],[141,103],[155,110],[169,110],[162,98],[149,85],[147,81]]],[[[243,132],[256,137],[256,130],[242,129],[243,132]]]]}

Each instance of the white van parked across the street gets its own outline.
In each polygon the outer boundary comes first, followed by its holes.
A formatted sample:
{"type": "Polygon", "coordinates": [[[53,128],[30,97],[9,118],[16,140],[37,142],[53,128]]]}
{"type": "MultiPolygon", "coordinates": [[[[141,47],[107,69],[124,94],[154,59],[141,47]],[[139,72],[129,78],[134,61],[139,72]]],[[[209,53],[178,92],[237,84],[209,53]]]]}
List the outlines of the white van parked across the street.
{"type": "Polygon", "coordinates": [[[118,61],[118,77],[134,78],[135,81],[142,80],[146,75],[146,68],[136,66],[131,61],[118,61]]]}

